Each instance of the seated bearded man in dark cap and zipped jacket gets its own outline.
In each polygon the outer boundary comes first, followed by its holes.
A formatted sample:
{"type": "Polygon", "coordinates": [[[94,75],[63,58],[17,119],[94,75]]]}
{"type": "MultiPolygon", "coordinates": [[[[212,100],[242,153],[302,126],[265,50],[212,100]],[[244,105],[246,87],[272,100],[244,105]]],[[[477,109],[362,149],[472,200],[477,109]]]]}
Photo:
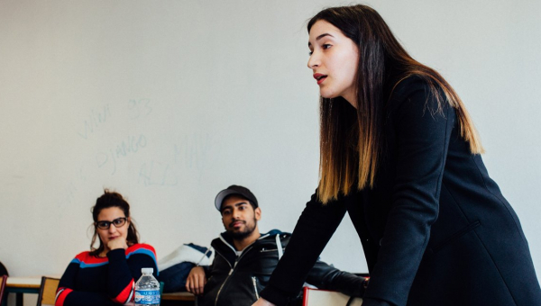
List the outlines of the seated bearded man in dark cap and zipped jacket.
{"type": "MultiPolygon", "coordinates": [[[[186,289],[199,295],[198,306],[251,305],[259,299],[291,235],[277,229],[260,234],[257,221],[261,220],[261,208],[250,190],[242,186],[232,185],[218,193],[215,207],[222,213],[225,232],[211,243],[215,249],[212,265],[192,268],[186,289]]],[[[307,277],[307,283],[319,289],[359,297],[365,282],[363,277],[321,261],[307,277]]]]}

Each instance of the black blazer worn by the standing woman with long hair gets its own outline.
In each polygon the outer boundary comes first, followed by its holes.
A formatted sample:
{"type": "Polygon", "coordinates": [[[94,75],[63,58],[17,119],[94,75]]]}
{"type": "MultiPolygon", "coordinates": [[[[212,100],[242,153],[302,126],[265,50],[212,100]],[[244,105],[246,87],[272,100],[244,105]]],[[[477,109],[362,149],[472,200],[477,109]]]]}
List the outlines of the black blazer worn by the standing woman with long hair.
{"type": "Polygon", "coordinates": [[[363,306],[541,305],[518,217],[460,136],[454,108],[438,111],[412,76],[386,109],[374,188],[327,205],[313,195],[261,296],[282,304],[298,292],[347,211],[371,275],[363,306]]]}

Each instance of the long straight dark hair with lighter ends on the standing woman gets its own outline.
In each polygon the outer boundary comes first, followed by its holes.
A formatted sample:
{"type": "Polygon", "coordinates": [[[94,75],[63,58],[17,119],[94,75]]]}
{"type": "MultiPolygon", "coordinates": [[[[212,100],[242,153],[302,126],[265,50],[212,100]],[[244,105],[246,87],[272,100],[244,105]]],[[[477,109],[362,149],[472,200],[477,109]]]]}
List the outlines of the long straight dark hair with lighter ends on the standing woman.
{"type": "Polygon", "coordinates": [[[320,181],[318,197],[326,203],[339,193],[373,187],[381,156],[381,130],[385,102],[384,87],[390,90],[408,76],[426,80],[441,111],[442,103],[454,107],[463,139],[472,153],[483,152],[470,115],[443,76],[408,55],[381,15],[369,6],[357,4],[327,8],[307,24],[308,32],[319,20],[333,24],[359,49],[356,89],[357,110],[343,97],[320,98],[320,181]],[[390,75],[394,84],[390,82],[390,75]],[[398,76],[398,77],[397,77],[398,76]]]}

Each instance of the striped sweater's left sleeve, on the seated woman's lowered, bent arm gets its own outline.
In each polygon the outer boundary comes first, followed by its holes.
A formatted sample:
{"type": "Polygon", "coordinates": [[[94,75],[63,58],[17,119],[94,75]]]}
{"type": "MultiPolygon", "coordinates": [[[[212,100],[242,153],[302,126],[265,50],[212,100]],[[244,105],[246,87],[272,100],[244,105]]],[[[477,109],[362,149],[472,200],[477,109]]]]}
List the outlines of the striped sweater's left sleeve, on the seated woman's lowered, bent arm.
{"type": "Polygon", "coordinates": [[[114,306],[118,305],[105,293],[87,293],[76,291],[75,278],[78,274],[78,264],[74,261],[69,263],[68,268],[60,278],[55,306],[114,306]]]}

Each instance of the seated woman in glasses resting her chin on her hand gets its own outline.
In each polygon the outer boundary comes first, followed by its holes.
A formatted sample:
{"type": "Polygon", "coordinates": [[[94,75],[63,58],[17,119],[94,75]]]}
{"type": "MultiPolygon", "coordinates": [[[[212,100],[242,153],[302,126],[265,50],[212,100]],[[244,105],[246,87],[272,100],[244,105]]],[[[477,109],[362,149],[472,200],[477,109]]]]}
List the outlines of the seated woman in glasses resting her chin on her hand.
{"type": "Polygon", "coordinates": [[[92,208],[94,236],[90,251],[80,253],[60,279],[55,306],[118,305],[133,301],[143,267],[158,275],[154,248],[139,243],[130,204],[120,193],[97,198],[92,208]],[[99,247],[94,247],[99,237],[99,247]]]}

